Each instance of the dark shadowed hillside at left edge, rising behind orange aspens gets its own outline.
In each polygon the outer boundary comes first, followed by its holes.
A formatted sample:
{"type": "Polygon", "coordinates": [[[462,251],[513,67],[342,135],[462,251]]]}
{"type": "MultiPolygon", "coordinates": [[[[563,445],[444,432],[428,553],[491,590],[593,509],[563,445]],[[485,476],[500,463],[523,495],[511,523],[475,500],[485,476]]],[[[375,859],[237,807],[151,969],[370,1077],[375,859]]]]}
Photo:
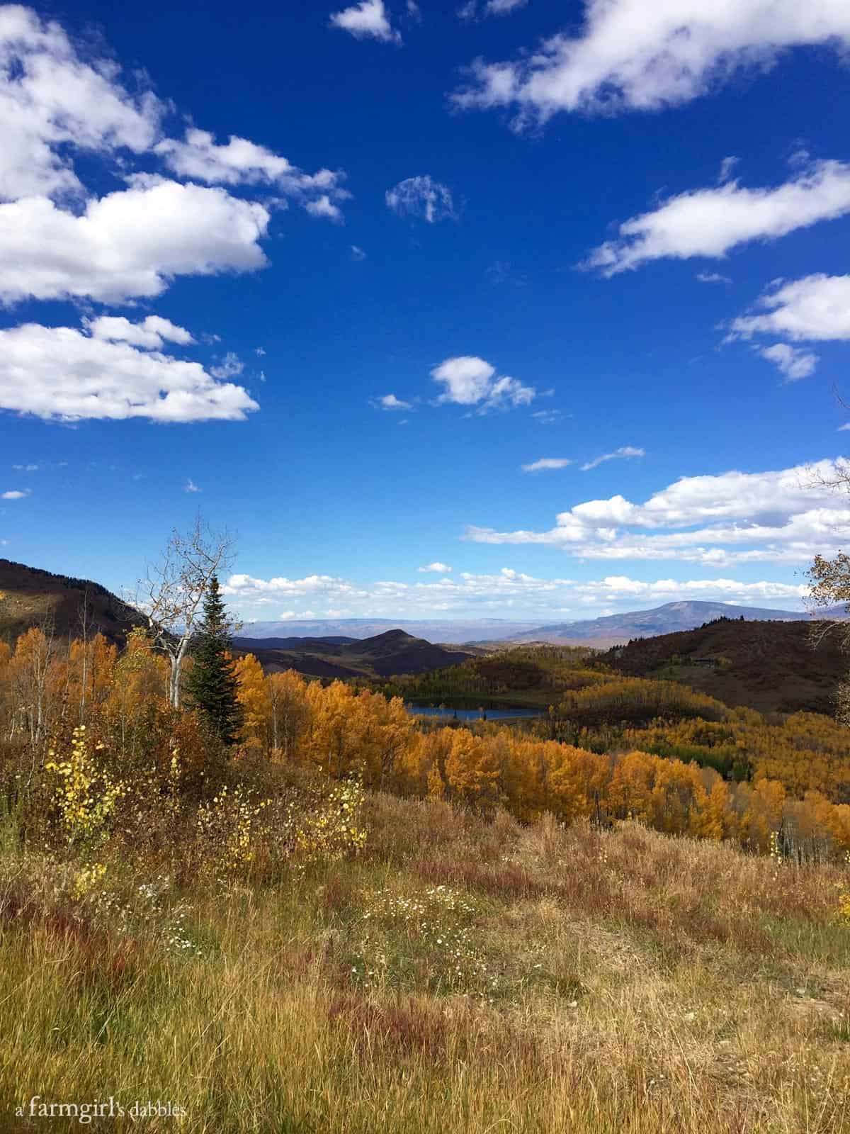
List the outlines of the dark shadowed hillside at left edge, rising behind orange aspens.
{"type": "Polygon", "coordinates": [[[80,637],[84,612],[90,637],[100,633],[116,644],[142,625],[138,613],[100,583],[0,559],[0,642],[12,644],[33,626],[61,638],[80,637]]]}

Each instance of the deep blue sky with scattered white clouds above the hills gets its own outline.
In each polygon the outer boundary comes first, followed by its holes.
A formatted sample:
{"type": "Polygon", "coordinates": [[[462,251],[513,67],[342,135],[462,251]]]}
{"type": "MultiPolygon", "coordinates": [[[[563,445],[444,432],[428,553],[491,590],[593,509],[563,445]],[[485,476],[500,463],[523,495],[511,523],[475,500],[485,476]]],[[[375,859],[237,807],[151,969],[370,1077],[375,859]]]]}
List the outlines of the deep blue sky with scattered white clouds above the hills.
{"type": "Polygon", "coordinates": [[[246,618],[798,608],[850,9],[705,7],[0,7],[2,553],[127,587],[199,508],[246,618]]]}

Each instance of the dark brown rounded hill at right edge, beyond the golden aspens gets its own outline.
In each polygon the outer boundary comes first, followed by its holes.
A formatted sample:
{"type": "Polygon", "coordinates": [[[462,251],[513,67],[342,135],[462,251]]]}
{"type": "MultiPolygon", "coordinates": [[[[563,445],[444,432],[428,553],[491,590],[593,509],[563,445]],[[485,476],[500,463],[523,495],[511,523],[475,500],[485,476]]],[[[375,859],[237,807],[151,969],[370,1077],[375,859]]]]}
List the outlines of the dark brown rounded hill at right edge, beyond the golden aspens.
{"type": "Polygon", "coordinates": [[[681,682],[728,705],[760,712],[831,713],[838,684],[850,668],[834,637],[814,648],[810,623],[729,619],[639,638],[602,660],[630,677],[681,682]]]}

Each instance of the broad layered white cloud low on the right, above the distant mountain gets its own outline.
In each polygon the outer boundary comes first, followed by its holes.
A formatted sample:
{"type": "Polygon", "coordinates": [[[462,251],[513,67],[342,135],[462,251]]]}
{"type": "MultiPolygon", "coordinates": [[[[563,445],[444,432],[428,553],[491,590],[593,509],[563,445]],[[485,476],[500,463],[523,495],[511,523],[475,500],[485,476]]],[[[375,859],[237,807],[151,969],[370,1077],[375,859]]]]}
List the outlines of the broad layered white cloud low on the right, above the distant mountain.
{"type": "Polygon", "coordinates": [[[537,532],[469,527],[478,543],[536,543],[581,559],[685,560],[706,566],[809,562],[838,550],[850,500],[818,484],[850,473],[844,458],[765,473],[685,476],[644,503],[617,494],[573,505],[537,532]]]}

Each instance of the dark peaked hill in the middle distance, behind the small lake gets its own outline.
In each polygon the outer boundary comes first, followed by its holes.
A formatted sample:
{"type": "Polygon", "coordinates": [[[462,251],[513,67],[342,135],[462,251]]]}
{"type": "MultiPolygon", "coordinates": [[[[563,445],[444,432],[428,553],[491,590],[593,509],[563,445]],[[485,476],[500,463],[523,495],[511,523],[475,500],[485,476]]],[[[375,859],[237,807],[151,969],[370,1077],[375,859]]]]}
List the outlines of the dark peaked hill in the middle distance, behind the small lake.
{"type": "MultiPolygon", "coordinates": [[[[253,653],[267,674],[297,669],[309,677],[392,677],[459,666],[474,652],[432,645],[403,631],[368,638],[286,637],[233,638],[237,653],[253,653]]],[[[481,652],[481,651],[476,651],[481,652]]]]}

